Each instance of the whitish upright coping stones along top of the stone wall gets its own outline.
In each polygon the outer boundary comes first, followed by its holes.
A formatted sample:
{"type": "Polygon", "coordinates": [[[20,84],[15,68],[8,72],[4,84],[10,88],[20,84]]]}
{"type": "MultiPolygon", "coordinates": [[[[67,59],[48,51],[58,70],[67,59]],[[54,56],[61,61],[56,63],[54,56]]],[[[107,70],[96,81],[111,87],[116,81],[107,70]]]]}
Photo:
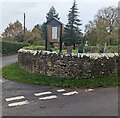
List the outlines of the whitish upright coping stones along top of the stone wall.
{"type": "Polygon", "coordinates": [[[78,54],[74,54],[74,53],[71,53],[71,54],[67,54],[67,53],[58,53],[58,52],[50,52],[50,51],[44,51],[44,50],[27,50],[27,49],[20,49],[18,51],[18,53],[29,53],[29,54],[33,54],[34,56],[36,54],[57,54],[57,55],[60,55],[61,57],[63,56],[72,56],[72,57],[89,57],[89,58],[92,58],[92,59],[98,59],[98,58],[103,58],[103,57],[106,57],[107,59],[109,59],[110,57],[114,57],[114,56],[119,56],[118,53],[78,53],[78,54]]]}

